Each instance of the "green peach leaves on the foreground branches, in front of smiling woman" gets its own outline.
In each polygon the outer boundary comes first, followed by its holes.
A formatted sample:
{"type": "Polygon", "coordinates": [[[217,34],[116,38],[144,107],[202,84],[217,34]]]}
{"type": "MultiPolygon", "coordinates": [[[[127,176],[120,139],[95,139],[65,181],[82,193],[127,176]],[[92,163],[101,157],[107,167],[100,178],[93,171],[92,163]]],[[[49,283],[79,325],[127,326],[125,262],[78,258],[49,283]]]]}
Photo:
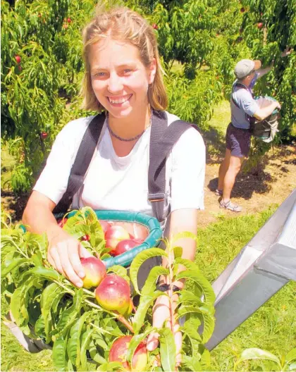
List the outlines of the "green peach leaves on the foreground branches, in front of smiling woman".
{"type": "MultiPolygon", "coordinates": [[[[101,254],[102,230],[94,218],[92,209],[83,209],[78,216],[68,218],[68,232],[78,235],[90,234],[92,252],[101,254]]],[[[154,300],[166,295],[173,303],[173,293],[164,294],[156,290],[156,278],[164,268],[156,266],[142,290],[137,285],[137,273],[146,259],[152,256],[166,256],[168,277],[171,280],[188,278],[194,287],[194,294],[181,290],[175,314],[171,314],[171,328],[158,329],[160,346],[152,352],[147,371],[175,370],[175,342],[173,341],[176,318],[183,318],[180,327],[183,333],[184,364],[188,371],[202,371],[209,367],[208,352],[203,343],[209,340],[214,330],[214,291],[209,282],[191,261],[181,259],[182,248],[173,248],[173,242],[166,241],[168,250],[152,248],[138,254],[130,266],[130,280],[135,293],[140,295],[140,303],[132,317],[122,316],[117,311],[109,311],[99,306],[94,292],[78,289],[60,275],[47,261],[47,238],[45,235],[24,233],[21,225],[12,226],[3,221],[1,231],[1,282],[2,291],[10,304],[11,313],[17,325],[26,335],[42,338],[53,348],[53,361],[58,371],[73,371],[76,368],[87,371],[99,366],[101,371],[111,371],[118,364],[109,364],[109,349],[116,337],[132,334],[128,350],[128,360],[132,358],[137,345],[154,330],[151,308],[154,300]],[[178,266],[185,271],[178,273],[178,266]],[[201,334],[197,330],[203,325],[201,334]],[[154,367],[156,355],[160,353],[161,367],[154,367]]],[[[181,237],[195,236],[190,233],[181,237]]],[[[87,245],[85,247],[88,247],[87,245]]],[[[115,272],[128,278],[127,270],[113,266],[115,272]]]]}

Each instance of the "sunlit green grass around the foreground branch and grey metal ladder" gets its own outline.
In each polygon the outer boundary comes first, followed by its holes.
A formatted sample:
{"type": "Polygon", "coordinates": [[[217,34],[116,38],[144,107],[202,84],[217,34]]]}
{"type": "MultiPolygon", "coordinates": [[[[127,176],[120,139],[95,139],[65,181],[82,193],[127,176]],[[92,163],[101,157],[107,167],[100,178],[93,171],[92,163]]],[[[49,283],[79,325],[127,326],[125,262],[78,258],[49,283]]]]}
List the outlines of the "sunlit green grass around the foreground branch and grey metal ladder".
{"type": "MultiPolygon", "coordinates": [[[[256,215],[222,219],[199,230],[196,262],[206,278],[212,282],[275,210],[276,206],[271,206],[256,215]]],[[[233,371],[233,364],[248,347],[267,349],[278,356],[296,347],[295,293],[295,282],[285,285],[212,350],[213,370],[233,371]]],[[[6,314],[7,310],[3,302],[1,314],[6,314]]],[[[28,354],[4,325],[1,327],[1,356],[1,371],[55,371],[50,351],[28,354]]],[[[275,366],[268,361],[245,361],[239,368],[240,371],[274,371],[275,366]]]]}

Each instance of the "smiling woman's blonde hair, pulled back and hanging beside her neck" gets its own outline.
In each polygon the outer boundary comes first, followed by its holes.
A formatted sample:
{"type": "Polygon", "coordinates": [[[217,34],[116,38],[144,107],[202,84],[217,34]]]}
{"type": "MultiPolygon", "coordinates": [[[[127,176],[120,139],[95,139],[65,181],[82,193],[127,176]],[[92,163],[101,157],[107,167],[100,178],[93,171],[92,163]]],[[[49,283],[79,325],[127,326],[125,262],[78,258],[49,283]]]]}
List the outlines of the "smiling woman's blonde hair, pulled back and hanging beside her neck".
{"type": "Polygon", "coordinates": [[[159,60],[157,41],[154,29],[142,18],[140,14],[125,7],[113,8],[110,11],[97,11],[97,15],[83,30],[83,58],[85,61],[85,75],[80,91],[83,97],[83,109],[101,111],[103,106],[97,100],[92,89],[90,63],[88,55],[90,46],[101,38],[110,36],[112,39],[130,42],[140,51],[140,59],[146,68],[156,60],[156,74],[154,82],[148,88],[148,101],[152,109],[165,110],[168,106],[168,97],[164,87],[162,68],[159,60]]]}

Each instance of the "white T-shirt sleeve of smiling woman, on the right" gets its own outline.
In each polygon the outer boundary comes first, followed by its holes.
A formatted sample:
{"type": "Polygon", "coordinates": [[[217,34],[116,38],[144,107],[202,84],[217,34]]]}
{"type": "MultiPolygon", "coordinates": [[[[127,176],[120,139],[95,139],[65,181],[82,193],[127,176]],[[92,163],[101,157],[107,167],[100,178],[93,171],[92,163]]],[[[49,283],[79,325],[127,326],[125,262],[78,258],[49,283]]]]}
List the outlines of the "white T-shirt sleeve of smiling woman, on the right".
{"type": "Polygon", "coordinates": [[[190,128],[172,151],[171,211],[204,209],[206,151],[200,133],[190,128]]]}

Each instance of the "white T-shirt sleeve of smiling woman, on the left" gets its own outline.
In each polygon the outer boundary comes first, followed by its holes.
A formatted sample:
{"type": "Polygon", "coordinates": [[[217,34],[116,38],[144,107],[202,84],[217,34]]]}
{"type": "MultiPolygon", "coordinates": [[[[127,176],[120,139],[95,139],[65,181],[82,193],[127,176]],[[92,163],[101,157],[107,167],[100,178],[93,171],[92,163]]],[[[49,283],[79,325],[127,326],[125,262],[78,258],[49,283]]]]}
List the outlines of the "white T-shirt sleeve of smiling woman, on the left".
{"type": "Polygon", "coordinates": [[[66,192],[70,169],[88,123],[89,118],[74,120],[58,133],[47,164],[33,187],[33,190],[41,192],[55,204],[66,192]]]}

